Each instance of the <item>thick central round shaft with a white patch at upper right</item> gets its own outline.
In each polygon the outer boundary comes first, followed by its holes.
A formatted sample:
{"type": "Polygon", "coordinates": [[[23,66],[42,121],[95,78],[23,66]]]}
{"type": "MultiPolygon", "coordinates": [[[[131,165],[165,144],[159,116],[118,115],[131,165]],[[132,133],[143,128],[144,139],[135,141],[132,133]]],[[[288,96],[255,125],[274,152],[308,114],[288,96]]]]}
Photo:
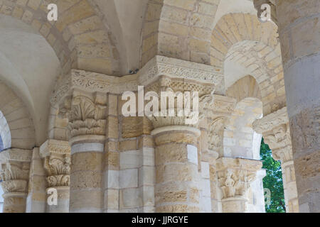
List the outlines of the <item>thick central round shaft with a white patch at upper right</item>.
{"type": "Polygon", "coordinates": [[[199,211],[198,135],[187,126],[169,126],[154,135],[156,212],[199,211]]]}

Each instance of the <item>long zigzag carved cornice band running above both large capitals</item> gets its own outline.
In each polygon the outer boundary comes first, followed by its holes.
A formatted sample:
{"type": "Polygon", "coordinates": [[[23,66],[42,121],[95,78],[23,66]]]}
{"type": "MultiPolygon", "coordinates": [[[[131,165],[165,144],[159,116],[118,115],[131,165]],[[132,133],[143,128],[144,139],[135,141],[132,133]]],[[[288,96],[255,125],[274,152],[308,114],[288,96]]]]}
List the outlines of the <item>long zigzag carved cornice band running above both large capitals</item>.
{"type": "Polygon", "coordinates": [[[190,79],[196,82],[214,84],[216,92],[223,94],[224,77],[215,72],[210,65],[178,60],[171,57],[156,55],[138,72],[124,77],[113,77],[83,70],[71,70],[65,79],[58,83],[50,97],[50,104],[56,106],[73,89],[83,92],[102,92],[122,94],[126,91],[137,91],[138,85],[148,85],[162,75],[171,78],[190,79]]]}

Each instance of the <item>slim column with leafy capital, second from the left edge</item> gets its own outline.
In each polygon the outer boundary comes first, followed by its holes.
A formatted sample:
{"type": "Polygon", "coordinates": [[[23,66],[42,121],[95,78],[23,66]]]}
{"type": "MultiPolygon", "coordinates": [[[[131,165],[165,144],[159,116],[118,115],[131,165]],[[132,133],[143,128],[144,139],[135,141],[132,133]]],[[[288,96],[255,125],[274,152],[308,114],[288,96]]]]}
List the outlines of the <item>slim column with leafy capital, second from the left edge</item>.
{"type": "MultiPolygon", "coordinates": [[[[48,188],[57,192],[57,205],[46,204],[47,213],[68,213],[70,199],[70,145],[68,141],[47,140],[40,147],[48,173],[48,188]]],[[[51,192],[52,193],[52,192],[51,192]]],[[[50,196],[50,193],[48,194],[50,196]]]]}

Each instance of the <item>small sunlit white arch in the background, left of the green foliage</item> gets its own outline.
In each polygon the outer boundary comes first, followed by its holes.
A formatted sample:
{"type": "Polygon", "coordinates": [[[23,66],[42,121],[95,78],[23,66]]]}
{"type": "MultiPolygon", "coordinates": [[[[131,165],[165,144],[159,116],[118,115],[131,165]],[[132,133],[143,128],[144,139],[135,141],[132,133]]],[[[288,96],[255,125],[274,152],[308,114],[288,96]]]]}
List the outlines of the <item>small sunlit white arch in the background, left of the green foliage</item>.
{"type": "Polygon", "coordinates": [[[260,160],[262,135],[255,133],[252,123],[262,118],[260,88],[254,77],[242,77],[227,90],[237,104],[223,133],[223,156],[260,160]]]}

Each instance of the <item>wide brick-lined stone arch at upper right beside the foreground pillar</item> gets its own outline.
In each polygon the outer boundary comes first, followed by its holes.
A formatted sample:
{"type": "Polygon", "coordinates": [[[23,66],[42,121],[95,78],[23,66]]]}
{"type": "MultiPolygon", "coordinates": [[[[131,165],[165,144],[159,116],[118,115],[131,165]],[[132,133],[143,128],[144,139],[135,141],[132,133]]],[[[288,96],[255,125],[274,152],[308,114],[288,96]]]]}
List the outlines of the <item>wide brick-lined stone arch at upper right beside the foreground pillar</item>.
{"type": "Polygon", "coordinates": [[[225,89],[251,74],[261,90],[264,115],[286,106],[281,48],[277,26],[260,23],[250,13],[229,13],[211,35],[210,62],[225,74],[225,89]],[[242,71],[229,78],[230,70],[242,71]]]}

